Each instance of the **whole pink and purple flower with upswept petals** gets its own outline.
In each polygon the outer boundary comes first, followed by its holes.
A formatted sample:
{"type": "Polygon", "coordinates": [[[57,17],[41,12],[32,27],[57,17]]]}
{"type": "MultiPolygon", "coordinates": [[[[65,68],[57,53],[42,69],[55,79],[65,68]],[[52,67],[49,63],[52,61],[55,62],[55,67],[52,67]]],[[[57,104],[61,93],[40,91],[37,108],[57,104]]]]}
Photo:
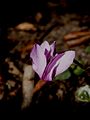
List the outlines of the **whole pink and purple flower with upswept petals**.
{"type": "Polygon", "coordinates": [[[52,81],[53,77],[67,70],[73,63],[75,51],[70,50],[60,54],[54,52],[55,41],[51,45],[47,41],[41,45],[34,45],[30,57],[32,67],[40,80],[52,81]]]}

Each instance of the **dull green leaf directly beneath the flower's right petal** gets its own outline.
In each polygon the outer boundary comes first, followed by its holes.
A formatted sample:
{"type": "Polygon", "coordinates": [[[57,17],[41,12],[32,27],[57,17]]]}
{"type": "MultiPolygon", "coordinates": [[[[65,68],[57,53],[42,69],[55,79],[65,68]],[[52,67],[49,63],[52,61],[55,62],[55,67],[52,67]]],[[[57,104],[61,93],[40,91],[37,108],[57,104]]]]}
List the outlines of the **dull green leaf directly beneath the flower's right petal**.
{"type": "Polygon", "coordinates": [[[55,77],[55,80],[66,80],[70,78],[71,73],[69,70],[66,70],[65,72],[59,74],[58,76],[55,77]]]}

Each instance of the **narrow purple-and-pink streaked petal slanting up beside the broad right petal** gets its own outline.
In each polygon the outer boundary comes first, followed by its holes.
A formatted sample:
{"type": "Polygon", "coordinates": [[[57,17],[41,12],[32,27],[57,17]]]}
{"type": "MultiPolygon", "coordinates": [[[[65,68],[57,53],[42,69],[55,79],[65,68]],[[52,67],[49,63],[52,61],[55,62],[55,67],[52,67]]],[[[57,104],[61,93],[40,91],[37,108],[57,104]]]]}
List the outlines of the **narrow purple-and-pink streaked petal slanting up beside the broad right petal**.
{"type": "Polygon", "coordinates": [[[49,62],[49,64],[46,66],[45,71],[43,73],[42,79],[51,81],[53,71],[58,67],[60,58],[64,55],[64,53],[57,54],[52,58],[52,60],[49,62]]]}

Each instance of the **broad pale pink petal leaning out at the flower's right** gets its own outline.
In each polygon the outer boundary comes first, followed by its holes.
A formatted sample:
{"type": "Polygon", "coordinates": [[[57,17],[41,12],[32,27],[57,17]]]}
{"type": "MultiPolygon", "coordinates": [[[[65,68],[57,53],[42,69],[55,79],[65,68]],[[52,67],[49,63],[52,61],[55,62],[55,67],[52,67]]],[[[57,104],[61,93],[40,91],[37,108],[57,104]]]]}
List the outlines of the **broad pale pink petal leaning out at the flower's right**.
{"type": "Polygon", "coordinates": [[[75,58],[75,51],[66,51],[65,54],[58,61],[59,65],[56,70],[56,75],[67,70],[70,67],[70,65],[73,63],[74,58],[75,58]]]}

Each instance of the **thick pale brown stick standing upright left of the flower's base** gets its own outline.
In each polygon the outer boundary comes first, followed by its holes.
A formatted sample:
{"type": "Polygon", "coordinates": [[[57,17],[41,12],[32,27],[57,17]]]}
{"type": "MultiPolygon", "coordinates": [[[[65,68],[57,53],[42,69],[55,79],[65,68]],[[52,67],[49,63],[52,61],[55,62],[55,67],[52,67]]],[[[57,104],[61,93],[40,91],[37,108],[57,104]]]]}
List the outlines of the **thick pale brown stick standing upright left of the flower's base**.
{"type": "Polygon", "coordinates": [[[23,101],[21,108],[28,107],[32,101],[33,88],[34,88],[34,71],[31,65],[25,65],[24,75],[22,81],[23,101]]]}

